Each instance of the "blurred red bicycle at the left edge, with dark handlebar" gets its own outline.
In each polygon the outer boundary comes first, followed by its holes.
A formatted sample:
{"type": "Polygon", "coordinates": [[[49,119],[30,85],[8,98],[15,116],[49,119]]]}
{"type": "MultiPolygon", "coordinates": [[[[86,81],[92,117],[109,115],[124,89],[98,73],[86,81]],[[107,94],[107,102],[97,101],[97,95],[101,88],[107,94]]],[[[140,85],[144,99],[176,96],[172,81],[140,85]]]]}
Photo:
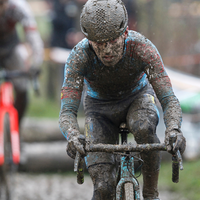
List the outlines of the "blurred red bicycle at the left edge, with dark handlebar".
{"type": "Polygon", "coordinates": [[[27,71],[0,71],[0,199],[11,200],[13,192],[13,173],[20,162],[20,135],[18,112],[14,107],[14,91],[11,79],[31,77],[34,90],[38,93],[38,83],[27,71]]]}

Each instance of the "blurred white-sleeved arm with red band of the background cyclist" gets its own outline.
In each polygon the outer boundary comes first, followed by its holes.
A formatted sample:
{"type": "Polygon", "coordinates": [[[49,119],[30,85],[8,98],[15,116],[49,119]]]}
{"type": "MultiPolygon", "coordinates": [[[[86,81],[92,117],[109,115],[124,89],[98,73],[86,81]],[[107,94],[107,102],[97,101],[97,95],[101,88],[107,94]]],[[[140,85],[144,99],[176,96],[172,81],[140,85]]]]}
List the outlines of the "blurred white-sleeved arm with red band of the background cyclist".
{"type": "Polygon", "coordinates": [[[43,41],[37,30],[36,21],[26,1],[18,0],[15,4],[18,7],[19,21],[24,28],[25,39],[31,47],[32,66],[39,68],[43,62],[43,41]]]}

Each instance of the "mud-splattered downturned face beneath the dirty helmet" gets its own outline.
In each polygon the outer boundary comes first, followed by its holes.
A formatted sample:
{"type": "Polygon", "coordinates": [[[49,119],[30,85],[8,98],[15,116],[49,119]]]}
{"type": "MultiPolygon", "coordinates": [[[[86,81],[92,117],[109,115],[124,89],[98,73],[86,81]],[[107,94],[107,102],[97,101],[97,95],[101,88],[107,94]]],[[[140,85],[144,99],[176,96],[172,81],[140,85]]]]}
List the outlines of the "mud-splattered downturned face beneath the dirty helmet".
{"type": "Polygon", "coordinates": [[[106,66],[114,66],[123,56],[125,34],[104,43],[90,41],[96,55],[106,66]]]}

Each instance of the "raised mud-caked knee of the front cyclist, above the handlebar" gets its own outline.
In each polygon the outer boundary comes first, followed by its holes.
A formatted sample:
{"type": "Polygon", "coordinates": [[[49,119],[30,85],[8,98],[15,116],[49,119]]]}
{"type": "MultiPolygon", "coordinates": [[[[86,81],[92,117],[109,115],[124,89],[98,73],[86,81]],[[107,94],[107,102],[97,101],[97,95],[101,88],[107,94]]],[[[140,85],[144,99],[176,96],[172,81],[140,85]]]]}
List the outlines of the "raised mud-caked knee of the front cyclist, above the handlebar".
{"type": "Polygon", "coordinates": [[[159,142],[156,136],[158,115],[154,110],[141,109],[127,117],[127,125],[137,143],[159,142]]]}

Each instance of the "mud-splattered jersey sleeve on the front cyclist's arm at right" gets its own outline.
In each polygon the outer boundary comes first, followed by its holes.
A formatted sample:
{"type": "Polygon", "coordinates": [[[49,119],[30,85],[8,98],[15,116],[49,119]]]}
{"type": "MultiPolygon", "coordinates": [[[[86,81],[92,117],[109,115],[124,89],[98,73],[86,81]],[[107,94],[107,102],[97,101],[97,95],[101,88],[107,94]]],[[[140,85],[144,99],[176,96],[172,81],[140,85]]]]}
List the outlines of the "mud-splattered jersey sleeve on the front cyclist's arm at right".
{"type": "Polygon", "coordinates": [[[167,131],[180,130],[182,122],[181,106],[173,92],[171,81],[157,48],[148,39],[143,38],[136,44],[136,51],[142,59],[148,80],[161,103],[167,131]]]}

